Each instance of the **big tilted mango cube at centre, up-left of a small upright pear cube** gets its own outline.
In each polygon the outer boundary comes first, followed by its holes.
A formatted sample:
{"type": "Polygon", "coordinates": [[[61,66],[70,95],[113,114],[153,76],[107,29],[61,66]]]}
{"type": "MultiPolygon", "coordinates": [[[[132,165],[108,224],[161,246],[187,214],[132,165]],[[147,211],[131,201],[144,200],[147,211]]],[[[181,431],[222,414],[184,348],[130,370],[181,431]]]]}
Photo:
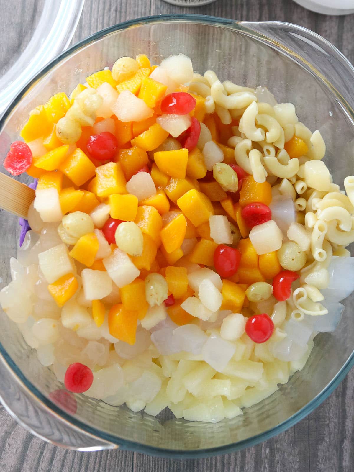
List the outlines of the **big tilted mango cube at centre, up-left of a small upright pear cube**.
{"type": "Polygon", "coordinates": [[[178,198],[177,205],[194,226],[200,226],[209,221],[211,215],[214,214],[209,198],[195,189],[189,190],[178,198]]]}

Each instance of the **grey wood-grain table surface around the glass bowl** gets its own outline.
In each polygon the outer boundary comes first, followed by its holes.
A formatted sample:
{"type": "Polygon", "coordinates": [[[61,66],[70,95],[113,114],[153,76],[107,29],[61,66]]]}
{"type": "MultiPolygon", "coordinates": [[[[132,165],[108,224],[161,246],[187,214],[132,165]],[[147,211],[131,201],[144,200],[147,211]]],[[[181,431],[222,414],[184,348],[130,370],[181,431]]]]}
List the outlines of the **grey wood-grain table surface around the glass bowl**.
{"type": "MultiPolygon", "coordinates": [[[[59,1],[59,0],[52,0],[59,1]]],[[[14,28],[25,15],[35,17],[42,0],[0,0],[11,8],[14,28]],[[9,6],[11,4],[11,6],[9,6]]],[[[239,20],[297,23],[324,36],[354,62],[354,15],[329,17],[307,11],[291,0],[217,0],[198,8],[179,8],[162,0],[86,0],[74,42],[135,17],[200,13],[239,20]]],[[[10,23],[11,25],[11,23],[10,23]]],[[[9,36],[0,45],[1,63],[11,48],[30,35],[9,36]],[[12,37],[13,36],[13,37],[12,37]],[[13,42],[11,42],[13,41],[13,42]]],[[[198,460],[169,460],[126,451],[75,452],[52,446],[17,425],[0,406],[1,472],[352,472],[354,471],[354,371],[313,413],[293,428],[235,454],[198,460]]]]}

